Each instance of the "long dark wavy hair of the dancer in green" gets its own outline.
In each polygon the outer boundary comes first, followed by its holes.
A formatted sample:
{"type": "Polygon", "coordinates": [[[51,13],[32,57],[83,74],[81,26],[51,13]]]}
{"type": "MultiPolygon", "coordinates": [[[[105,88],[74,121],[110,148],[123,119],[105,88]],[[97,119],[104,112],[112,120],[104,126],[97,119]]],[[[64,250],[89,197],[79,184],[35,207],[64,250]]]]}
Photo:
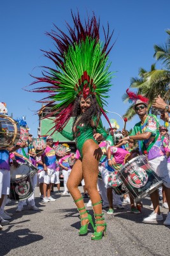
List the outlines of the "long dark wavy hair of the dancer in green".
{"type": "MultiPolygon", "coordinates": [[[[78,116],[81,115],[81,109],[80,109],[80,99],[81,98],[82,98],[82,96],[77,97],[75,102],[74,102],[73,111],[72,111],[72,115],[74,116],[74,123],[76,122],[76,119],[78,118],[78,116]]],[[[90,100],[91,100],[90,108],[87,109],[87,111],[85,111],[85,113],[83,113],[81,115],[81,118],[80,118],[80,120],[78,120],[76,125],[78,125],[78,124],[91,125],[92,118],[94,116],[97,117],[97,120],[100,118],[101,110],[99,108],[99,104],[97,103],[96,97],[94,95],[92,95],[90,97],[90,100]]]]}

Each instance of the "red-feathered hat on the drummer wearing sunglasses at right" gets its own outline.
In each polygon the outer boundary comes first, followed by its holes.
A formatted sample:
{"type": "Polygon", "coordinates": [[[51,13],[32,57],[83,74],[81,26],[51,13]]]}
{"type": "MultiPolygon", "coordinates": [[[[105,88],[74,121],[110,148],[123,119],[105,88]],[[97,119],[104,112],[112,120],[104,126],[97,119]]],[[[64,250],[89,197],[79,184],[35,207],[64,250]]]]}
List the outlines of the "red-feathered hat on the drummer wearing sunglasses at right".
{"type": "Polygon", "coordinates": [[[129,88],[126,90],[126,93],[129,97],[129,103],[134,103],[134,108],[138,104],[145,104],[146,107],[148,106],[149,99],[144,97],[143,95],[131,92],[129,88]]]}

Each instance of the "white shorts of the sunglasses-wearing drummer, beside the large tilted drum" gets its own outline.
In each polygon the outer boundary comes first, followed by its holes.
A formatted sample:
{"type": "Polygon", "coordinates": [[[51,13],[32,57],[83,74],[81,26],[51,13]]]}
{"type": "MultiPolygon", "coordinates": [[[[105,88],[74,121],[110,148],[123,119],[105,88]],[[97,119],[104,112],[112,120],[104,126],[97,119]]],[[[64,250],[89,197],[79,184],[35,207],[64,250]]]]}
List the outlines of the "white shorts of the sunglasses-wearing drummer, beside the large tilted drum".
{"type": "Polygon", "coordinates": [[[160,156],[149,160],[152,170],[164,181],[164,186],[170,188],[170,175],[167,170],[167,159],[165,156],[160,156]]]}

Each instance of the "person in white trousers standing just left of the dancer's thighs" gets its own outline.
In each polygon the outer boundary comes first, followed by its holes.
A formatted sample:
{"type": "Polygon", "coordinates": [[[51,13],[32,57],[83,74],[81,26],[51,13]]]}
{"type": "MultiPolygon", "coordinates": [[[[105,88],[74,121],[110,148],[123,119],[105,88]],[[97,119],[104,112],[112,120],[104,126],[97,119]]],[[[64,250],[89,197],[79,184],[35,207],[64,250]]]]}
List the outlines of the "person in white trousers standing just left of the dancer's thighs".
{"type": "Polygon", "coordinates": [[[68,159],[69,157],[73,159],[75,158],[74,154],[71,154],[71,149],[69,147],[66,147],[66,153],[66,156],[59,159],[59,166],[62,168],[62,175],[64,177],[64,192],[62,195],[68,194],[67,180],[69,179],[69,175],[71,173],[71,166],[69,165],[68,159]]]}

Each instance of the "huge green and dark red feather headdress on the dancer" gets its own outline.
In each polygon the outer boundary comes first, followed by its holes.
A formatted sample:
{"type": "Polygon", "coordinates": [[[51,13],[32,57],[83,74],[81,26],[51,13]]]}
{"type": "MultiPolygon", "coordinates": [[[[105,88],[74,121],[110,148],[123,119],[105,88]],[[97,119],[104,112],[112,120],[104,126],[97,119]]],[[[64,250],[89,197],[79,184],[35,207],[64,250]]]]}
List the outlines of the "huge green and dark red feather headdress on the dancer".
{"type": "MultiPolygon", "coordinates": [[[[57,26],[56,31],[46,33],[55,41],[57,52],[43,51],[45,56],[55,63],[56,69],[45,67],[43,77],[34,77],[36,83],[48,83],[49,86],[36,88],[32,92],[47,92],[50,95],[39,101],[50,106],[56,102],[51,113],[45,118],[55,115],[55,131],[61,131],[71,117],[74,100],[78,96],[85,99],[95,95],[101,112],[107,118],[103,106],[106,105],[112,73],[109,72],[108,49],[111,36],[104,31],[104,42],[99,39],[99,22],[95,15],[92,19],[85,20],[85,26],[81,23],[80,15],[73,16],[74,28],[67,24],[68,34],[62,32],[57,26]],[[108,50],[107,50],[108,49],[108,50]]],[[[107,119],[108,120],[108,119],[107,119]]],[[[109,122],[109,120],[108,120],[109,122]]]]}

